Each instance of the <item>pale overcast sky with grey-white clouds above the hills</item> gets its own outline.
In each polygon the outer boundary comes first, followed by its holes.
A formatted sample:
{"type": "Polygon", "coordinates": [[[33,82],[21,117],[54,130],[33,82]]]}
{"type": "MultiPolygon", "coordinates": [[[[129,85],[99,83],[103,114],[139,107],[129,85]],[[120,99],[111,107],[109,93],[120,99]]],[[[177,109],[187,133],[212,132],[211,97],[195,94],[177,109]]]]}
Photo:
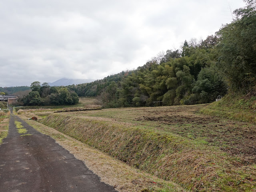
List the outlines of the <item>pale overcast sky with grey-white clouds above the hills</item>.
{"type": "Polygon", "coordinates": [[[230,23],[242,0],[2,0],[0,86],[102,79],[230,23]],[[230,6],[229,6],[230,5],[230,6]]]}

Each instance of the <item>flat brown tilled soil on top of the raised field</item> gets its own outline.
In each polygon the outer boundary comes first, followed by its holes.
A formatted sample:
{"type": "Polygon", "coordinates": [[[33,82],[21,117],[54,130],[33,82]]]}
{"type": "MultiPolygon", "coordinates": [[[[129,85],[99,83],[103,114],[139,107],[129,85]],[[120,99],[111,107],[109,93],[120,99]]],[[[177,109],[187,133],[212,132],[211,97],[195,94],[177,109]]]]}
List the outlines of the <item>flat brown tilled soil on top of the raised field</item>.
{"type": "MultiPolygon", "coordinates": [[[[220,147],[232,155],[242,157],[242,164],[256,163],[256,126],[244,122],[206,116],[194,110],[147,111],[146,115],[135,118],[137,121],[160,122],[159,129],[168,125],[168,131],[187,138],[202,138],[209,145],[220,147]],[[162,125],[162,126],[161,126],[162,125]]],[[[166,128],[164,129],[166,130],[166,128]]]]}

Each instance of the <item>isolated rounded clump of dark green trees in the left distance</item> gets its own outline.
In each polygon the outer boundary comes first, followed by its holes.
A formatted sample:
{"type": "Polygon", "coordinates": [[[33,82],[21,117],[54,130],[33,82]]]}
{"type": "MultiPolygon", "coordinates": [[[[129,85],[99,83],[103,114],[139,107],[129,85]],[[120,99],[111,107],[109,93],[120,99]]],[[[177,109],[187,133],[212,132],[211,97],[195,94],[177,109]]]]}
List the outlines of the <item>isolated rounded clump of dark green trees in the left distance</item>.
{"type": "Polygon", "coordinates": [[[65,87],[50,87],[48,83],[41,84],[36,81],[30,85],[31,92],[21,98],[24,105],[43,106],[43,105],[74,105],[78,104],[76,92],[65,87]]]}

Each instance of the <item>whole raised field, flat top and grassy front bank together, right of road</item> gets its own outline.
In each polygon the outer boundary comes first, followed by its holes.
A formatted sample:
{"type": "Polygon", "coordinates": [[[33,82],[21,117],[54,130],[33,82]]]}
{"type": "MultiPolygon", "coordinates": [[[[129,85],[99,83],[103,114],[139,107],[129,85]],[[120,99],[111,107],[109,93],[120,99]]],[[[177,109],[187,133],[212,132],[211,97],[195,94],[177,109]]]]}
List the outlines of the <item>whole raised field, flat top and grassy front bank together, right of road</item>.
{"type": "Polygon", "coordinates": [[[191,191],[256,191],[255,126],[204,105],[50,114],[42,122],[191,191]]]}

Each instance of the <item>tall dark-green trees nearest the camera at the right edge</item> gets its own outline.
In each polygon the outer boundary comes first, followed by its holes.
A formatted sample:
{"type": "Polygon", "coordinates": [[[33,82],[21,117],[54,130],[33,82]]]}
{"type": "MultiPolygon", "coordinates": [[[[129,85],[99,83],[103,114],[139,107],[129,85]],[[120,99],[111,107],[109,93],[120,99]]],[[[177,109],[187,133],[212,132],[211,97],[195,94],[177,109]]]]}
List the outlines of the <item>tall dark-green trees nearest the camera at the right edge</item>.
{"type": "Polygon", "coordinates": [[[256,94],[256,1],[234,11],[236,19],[218,32],[218,68],[230,89],[256,94]]]}

